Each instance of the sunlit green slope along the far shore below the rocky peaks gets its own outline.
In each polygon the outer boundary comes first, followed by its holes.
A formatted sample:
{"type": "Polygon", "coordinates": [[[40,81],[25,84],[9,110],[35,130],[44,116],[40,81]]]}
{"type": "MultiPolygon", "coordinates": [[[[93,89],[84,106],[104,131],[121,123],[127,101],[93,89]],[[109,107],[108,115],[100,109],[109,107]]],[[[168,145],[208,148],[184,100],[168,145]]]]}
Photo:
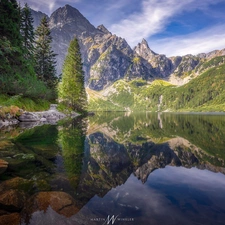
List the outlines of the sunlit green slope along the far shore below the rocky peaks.
{"type": "Polygon", "coordinates": [[[201,75],[183,86],[163,80],[147,83],[137,79],[119,80],[92,98],[90,110],[122,111],[225,111],[225,56],[207,61],[201,75]],[[216,69],[215,69],[215,65],[216,69]],[[211,66],[214,65],[212,68],[211,66]],[[104,96],[104,98],[96,97],[104,96]]]}

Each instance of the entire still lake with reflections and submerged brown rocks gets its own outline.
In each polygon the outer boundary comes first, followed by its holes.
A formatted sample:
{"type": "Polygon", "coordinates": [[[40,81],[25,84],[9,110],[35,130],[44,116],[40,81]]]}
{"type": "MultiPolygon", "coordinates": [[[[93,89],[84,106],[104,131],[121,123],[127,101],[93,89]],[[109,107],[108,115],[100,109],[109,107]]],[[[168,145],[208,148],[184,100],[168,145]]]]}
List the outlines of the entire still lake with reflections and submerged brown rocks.
{"type": "Polygon", "coordinates": [[[0,133],[0,225],[225,224],[225,115],[20,126],[0,133]]]}

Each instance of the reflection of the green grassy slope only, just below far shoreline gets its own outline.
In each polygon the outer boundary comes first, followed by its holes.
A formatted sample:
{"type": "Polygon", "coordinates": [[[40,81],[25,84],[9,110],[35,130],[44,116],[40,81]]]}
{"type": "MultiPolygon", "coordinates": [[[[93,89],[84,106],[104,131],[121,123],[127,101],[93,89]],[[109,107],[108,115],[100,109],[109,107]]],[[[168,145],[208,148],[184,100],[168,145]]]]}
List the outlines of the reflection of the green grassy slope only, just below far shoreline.
{"type": "Polygon", "coordinates": [[[180,145],[216,166],[224,165],[225,116],[202,114],[101,114],[90,118],[88,134],[101,132],[115,142],[180,145]],[[109,118],[109,119],[108,119],[109,118]],[[204,154],[204,157],[201,156],[204,154]]]}

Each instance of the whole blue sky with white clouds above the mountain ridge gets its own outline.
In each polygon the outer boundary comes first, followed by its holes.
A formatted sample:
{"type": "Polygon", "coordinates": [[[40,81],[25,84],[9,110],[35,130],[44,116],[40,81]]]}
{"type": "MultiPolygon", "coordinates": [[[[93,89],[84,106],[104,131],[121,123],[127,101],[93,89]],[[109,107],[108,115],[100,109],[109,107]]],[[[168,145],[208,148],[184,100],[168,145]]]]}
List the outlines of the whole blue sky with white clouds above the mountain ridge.
{"type": "MultiPolygon", "coordinates": [[[[23,5],[24,1],[20,0],[23,5]]],[[[104,24],[133,48],[143,38],[167,56],[225,48],[225,0],[27,0],[50,15],[65,4],[94,26],[104,24]]]]}

